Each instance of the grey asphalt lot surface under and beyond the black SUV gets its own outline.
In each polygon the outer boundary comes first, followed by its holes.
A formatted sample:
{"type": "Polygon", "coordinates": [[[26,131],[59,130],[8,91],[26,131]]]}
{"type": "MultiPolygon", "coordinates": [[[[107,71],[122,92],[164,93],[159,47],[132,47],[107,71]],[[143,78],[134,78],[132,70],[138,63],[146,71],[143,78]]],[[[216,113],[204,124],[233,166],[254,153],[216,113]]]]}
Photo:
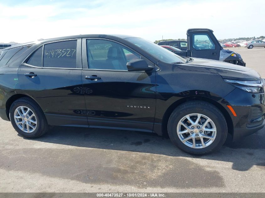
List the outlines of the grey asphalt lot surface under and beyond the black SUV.
{"type": "MultiPolygon", "coordinates": [[[[265,77],[265,48],[231,50],[265,77]]],[[[0,192],[265,192],[265,128],[193,156],[156,134],[54,127],[29,140],[0,125],[0,192]]]]}

